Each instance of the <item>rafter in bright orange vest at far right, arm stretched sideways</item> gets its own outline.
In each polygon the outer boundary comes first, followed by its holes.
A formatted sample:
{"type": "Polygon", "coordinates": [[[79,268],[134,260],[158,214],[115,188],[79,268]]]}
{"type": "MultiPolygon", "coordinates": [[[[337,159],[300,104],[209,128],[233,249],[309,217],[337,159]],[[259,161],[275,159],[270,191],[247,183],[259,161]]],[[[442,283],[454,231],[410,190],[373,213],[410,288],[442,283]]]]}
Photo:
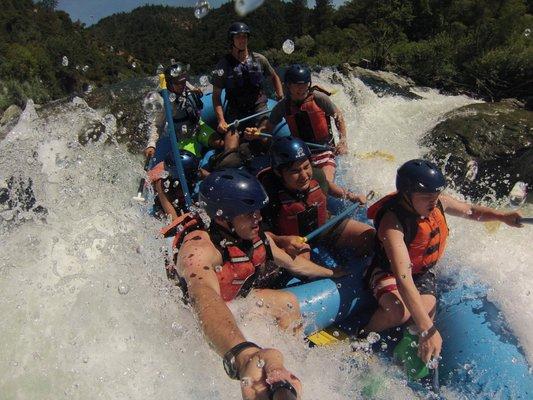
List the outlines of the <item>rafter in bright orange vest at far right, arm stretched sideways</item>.
{"type": "Polygon", "coordinates": [[[397,192],[368,209],[377,230],[369,284],[379,308],[360,337],[412,320],[419,335],[418,354],[438,359],[440,333],[433,325],[436,281],[433,267],[444,253],[449,234],[445,213],[474,221],[501,221],[520,227],[520,214],[471,205],[442,193],[446,180],[438,167],[411,160],[397,172],[397,192]]]}

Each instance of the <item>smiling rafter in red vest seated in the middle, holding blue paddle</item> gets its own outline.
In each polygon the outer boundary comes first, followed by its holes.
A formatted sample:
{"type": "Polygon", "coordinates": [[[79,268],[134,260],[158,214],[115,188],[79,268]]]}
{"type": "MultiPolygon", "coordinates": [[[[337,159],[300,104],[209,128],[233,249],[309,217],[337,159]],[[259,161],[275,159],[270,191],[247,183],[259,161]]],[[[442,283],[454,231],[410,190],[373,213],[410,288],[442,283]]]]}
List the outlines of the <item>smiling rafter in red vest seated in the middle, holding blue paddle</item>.
{"type": "MultiPolygon", "coordinates": [[[[347,198],[365,203],[364,195],[356,195],[329,182],[322,170],[311,165],[311,152],[296,137],[280,137],[270,148],[271,169],[260,172],[259,179],[271,201],[263,210],[263,217],[276,235],[303,237],[324,225],[329,219],[327,196],[347,198]]],[[[374,229],[362,222],[346,218],[319,235],[319,243],[335,248],[352,248],[358,255],[370,254],[374,244],[374,229]]],[[[291,255],[297,248],[278,244],[291,255]]]]}

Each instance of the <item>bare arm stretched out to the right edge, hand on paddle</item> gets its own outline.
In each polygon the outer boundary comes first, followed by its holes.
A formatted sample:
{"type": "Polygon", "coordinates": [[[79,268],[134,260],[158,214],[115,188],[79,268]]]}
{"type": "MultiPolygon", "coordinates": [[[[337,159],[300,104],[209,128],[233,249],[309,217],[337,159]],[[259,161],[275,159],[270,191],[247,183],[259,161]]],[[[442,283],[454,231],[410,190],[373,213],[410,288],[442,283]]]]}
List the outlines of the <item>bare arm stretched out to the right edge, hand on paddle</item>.
{"type": "Polygon", "coordinates": [[[518,211],[499,211],[490,207],[473,205],[459,201],[451,196],[441,194],[439,199],[442,203],[444,211],[456,217],[472,219],[474,221],[500,221],[505,222],[509,226],[519,228],[523,226],[520,223],[522,217],[518,211]]]}

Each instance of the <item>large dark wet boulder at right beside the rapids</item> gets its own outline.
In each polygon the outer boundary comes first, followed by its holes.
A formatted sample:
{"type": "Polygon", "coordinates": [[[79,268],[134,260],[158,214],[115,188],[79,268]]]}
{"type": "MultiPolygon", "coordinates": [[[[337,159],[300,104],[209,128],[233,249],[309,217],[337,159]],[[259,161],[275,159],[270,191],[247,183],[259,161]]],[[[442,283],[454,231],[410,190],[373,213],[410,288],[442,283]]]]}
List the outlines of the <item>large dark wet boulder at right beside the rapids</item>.
{"type": "Polygon", "coordinates": [[[502,101],[452,111],[422,144],[455,188],[480,199],[505,196],[516,181],[533,187],[532,142],[533,112],[516,101],[502,101]]]}

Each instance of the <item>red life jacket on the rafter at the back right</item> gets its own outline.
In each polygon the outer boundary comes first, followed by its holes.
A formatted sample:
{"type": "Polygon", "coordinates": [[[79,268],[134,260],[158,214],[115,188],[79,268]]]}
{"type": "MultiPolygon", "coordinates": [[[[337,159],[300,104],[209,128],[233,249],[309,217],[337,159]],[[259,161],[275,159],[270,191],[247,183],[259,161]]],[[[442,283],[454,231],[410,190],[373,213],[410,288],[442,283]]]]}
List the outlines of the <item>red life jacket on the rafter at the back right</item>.
{"type": "Polygon", "coordinates": [[[316,104],[312,93],[299,106],[287,99],[285,121],[291,134],[305,142],[325,144],[333,139],[329,117],[316,104]]]}

